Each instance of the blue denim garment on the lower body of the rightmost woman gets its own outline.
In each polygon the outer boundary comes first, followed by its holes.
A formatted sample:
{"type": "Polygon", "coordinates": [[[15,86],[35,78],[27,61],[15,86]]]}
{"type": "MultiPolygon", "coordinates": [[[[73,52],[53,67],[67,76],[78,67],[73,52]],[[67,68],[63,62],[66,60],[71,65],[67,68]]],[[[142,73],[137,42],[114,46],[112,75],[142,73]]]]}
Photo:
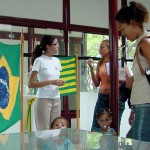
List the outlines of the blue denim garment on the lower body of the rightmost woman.
{"type": "Polygon", "coordinates": [[[135,119],[127,133],[127,138],[150,142],[150,104],[132,106],[135,119]]]}

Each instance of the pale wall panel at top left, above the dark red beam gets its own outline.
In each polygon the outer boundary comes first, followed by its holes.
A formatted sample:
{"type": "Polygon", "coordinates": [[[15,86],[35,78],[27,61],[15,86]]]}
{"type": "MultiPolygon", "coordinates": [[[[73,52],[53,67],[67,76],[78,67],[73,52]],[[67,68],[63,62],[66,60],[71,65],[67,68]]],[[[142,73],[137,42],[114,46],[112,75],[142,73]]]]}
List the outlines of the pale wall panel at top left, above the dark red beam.
{"type": "Polygon", "coordinates": [[[1,0],[0,15],[62,22],[62,0],[1,0]]]}

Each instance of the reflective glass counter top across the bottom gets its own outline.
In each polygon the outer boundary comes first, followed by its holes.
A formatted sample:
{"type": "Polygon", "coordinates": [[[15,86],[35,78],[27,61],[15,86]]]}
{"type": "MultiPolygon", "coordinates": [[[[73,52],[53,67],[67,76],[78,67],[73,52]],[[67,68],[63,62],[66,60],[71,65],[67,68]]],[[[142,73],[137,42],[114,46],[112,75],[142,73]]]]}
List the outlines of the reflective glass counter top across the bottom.
{"type": "Polygon", "coordinates": [[[0,150],[149,150],[150,143],[78,129],[0,134],[0,150]]]}

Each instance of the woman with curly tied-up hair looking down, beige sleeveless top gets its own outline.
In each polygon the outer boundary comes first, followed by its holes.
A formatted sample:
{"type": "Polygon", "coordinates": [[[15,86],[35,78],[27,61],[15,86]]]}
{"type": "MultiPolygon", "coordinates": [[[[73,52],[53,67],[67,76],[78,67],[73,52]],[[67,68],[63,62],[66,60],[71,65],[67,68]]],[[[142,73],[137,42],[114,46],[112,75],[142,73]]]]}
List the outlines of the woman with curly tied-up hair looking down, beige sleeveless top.
{"type": "MultiPolygon", "coordinates": [[[[122,36],[130,41],[137,40],[137,46],[140,48],[136,51],[143,69],[150,67],[150,34],[144,29],[144,23],[147,23],[148,19],[148,10],[136,1],[131,1],[121,8],[115,16],[122,36]]],[[[133,61],[133,76],[127,81],[130,85],[133,83],[132,111],[129,117],[131,129],[127,137],[150,142],[150,85],[146,76],[141,74],[136,57],[133,61]]]]}

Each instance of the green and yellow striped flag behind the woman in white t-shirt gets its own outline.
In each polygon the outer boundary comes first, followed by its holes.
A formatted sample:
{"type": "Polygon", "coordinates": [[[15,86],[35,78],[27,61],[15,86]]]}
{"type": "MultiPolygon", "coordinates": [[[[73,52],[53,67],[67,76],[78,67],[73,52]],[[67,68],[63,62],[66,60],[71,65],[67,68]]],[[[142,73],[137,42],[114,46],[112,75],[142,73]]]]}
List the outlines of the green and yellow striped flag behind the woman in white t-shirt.
{"type": "Polygon", "coordinates": [[[66,84],[59,87],[60,95],[67,96],[76,93],[76,62],[75,56],[59,57],[62,71],[60,79],[65,80],[66,84]]]}

